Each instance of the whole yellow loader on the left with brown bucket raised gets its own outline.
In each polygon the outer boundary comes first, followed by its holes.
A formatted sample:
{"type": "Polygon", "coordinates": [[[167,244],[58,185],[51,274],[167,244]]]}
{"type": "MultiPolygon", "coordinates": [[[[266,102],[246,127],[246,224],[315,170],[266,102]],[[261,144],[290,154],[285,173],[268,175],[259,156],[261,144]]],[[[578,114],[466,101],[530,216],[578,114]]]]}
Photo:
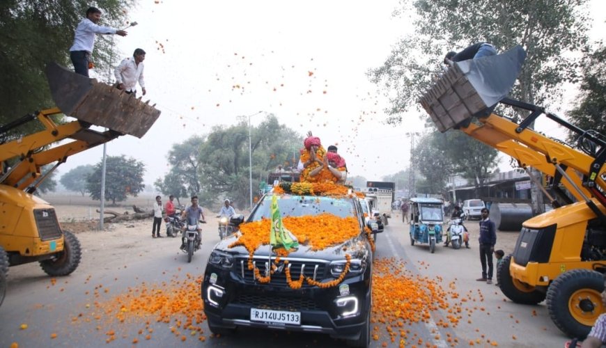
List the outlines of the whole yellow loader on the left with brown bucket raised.
{"type": "MultiPolygon", "coordinates": [[[[78,267],[80,244],[63,230],[52,205],[33,196],[47,175],[41,168],[54,164],[54,171],[70,155],[107,143],[123,134],[145,134],[160,111],[132,95],[95,79],[75,74],[51,63],[47,78],[54,102],[47,109],[18,118],[0,127],[0,134],[37,120],[45,129],[0,144],[0,280],[9,266],[40,262],[50,276],[66,276],[78,267]],[[57,124],[51,116],[76,120],[57,124]],[[91,125],[106,127],[104,132],[91,125]],[[63,143],[56,144],[59,141],[63,143]]],[[[0,283],[0,303],[6,283],[0,283]]]]}

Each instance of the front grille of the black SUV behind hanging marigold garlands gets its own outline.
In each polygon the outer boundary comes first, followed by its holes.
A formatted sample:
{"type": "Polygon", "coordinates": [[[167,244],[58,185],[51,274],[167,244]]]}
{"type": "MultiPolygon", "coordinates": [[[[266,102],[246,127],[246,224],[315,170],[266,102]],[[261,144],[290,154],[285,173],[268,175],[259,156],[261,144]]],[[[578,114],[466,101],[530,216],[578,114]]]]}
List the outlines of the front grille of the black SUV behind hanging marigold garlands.
{"type": "MultiPolygon", "coordinates": [[[[254,258],[253,263],[261,272],[261,276],[265,276],[268,260],[266,258],[254,258]]],[[[254,279],[254,271],[248,269],[248,258],[239,258],[237,264],[238,275],[244,280],[244,283],[260,284],[254,279]]],[[[325,278],[327,264],[325,262],[318,262],[318,260],[290,260],[288,258],[283,258],[277,267],[278,269],[272,274],[272,280],[269,285],[288,286],[286,283],[286,267],[290,267],[290,278],[292,280],[299,280],[301,271],[303,271],[305,277],[320,281],[325,278]],[[283,264],[283,260],[288,260],[288,266],[283,264]]],[[[304,281],[303,287],[311,287],[311,285],[304,281]]]]}

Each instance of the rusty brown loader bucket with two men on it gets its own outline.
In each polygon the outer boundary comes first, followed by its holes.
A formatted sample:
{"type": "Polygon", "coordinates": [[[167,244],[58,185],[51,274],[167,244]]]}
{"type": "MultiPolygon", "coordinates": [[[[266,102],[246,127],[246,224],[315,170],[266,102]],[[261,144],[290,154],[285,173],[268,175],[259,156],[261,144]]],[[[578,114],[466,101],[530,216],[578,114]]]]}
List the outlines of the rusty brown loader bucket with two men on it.
{"type": "Polygon", "coordinates": [[[53,100],[65,115],[141,138],[160,111],[132,94],[76,74],[56,63],[46,68],[53,100]]]}

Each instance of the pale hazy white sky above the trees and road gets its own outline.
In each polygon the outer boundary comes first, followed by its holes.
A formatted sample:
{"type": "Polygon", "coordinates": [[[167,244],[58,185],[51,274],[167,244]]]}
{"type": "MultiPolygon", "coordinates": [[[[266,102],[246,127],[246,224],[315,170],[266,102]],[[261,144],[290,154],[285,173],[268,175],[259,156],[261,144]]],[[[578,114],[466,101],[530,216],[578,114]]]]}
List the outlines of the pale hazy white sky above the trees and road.
{"type": "MultiPolygon", "coordinates": [[[[601,16],[594,39],[606,32],[605,3],[591,1],[591,12],[601,16]]],[[[139,1],[129,10],[139,24],[114,42],[121,58],[146,50],[143,100],[162,115],[143,139],[111,141],[108,155],[143,161],[151,184],[168,171],[173,143],[265,111],[301,135],[312,130],[325,147],[336,143],[351,176],[379,180],[403,170],[410,159],[405,134],[422,131],[423,122],[410,115],[401,126],[384,125],[387,104],[366,77],[412,31],[410,21],[391,17],[397,6],[397,0],[139,1]]],[[[72,156],[59,175],[101,157],[102,146],[72,156]]]]}

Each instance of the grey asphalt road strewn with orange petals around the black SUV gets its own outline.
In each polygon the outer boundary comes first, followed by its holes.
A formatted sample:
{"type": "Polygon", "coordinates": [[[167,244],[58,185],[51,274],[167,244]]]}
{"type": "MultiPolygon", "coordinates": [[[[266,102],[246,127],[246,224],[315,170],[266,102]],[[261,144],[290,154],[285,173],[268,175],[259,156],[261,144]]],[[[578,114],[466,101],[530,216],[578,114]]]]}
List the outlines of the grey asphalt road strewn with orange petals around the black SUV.
{"type": "MultiPolygon", "coordinates": [[[[196,314],[190,308],[199,308],[201,303],[195,280],[203,274],[210,250],[218,242],[217,224],[209,219],[203,249],[188,264],[177,250],[176,239],[150,238],[150,223],[135,223],[131,229],[118,226],[109,232],[79,233],[83,259],[67,277],[49,278],[38,264],[11,267],[8,294],[0,308],[0,347],[10,347],[13,342],[19,347],[346,346],[343,341],[319,334],[239,329],[235,335],[215,338],[203,321],[184,327],[187,314],[196,314]],[[182,309],[169,313],[169,323],[158,322],[157,313],[120,313],[127,312],[123,304],[134,298],[153,302],[150,293],[157,293],[153,298],[160,299],[169,298],[168,292],[182,296],[182,301],[176,301],[182,309]],[[21,324],[27,328],[20,329],[21,324]]],[[[448,294],[458,293],[458,299],[446,299],[451,306],[433,310],[425,322],[405,324],[401,328],[407,336],[405,346],[468,347],[472,342],[476,347],[562,347],[566,337],[552,324],[544,303],[518,305],[506,300],[495,285],[475,281],[481,276],[478,228],[472,221],[467,226],[472,232],[471,249],[437,246],[433,254],[427,246],[411,246],[407,226],[395,216],[378,236],[375,262],[402,260],[410,274],[435,281],[448,294]],[[442,326],[440,323],[453,314],[449,311],[456,312],[456,308],[458,324],[442,326]]],[[[517,233],[497,235],[497,247],[511,252],[517,233]]],[[[140,306],[149,310],[152,305],[140,306]]],[[[400,335],[391,342],[387,326],[373,323],[377,339],[371,340],[371,347],[400,345],[400,335]]]]}

